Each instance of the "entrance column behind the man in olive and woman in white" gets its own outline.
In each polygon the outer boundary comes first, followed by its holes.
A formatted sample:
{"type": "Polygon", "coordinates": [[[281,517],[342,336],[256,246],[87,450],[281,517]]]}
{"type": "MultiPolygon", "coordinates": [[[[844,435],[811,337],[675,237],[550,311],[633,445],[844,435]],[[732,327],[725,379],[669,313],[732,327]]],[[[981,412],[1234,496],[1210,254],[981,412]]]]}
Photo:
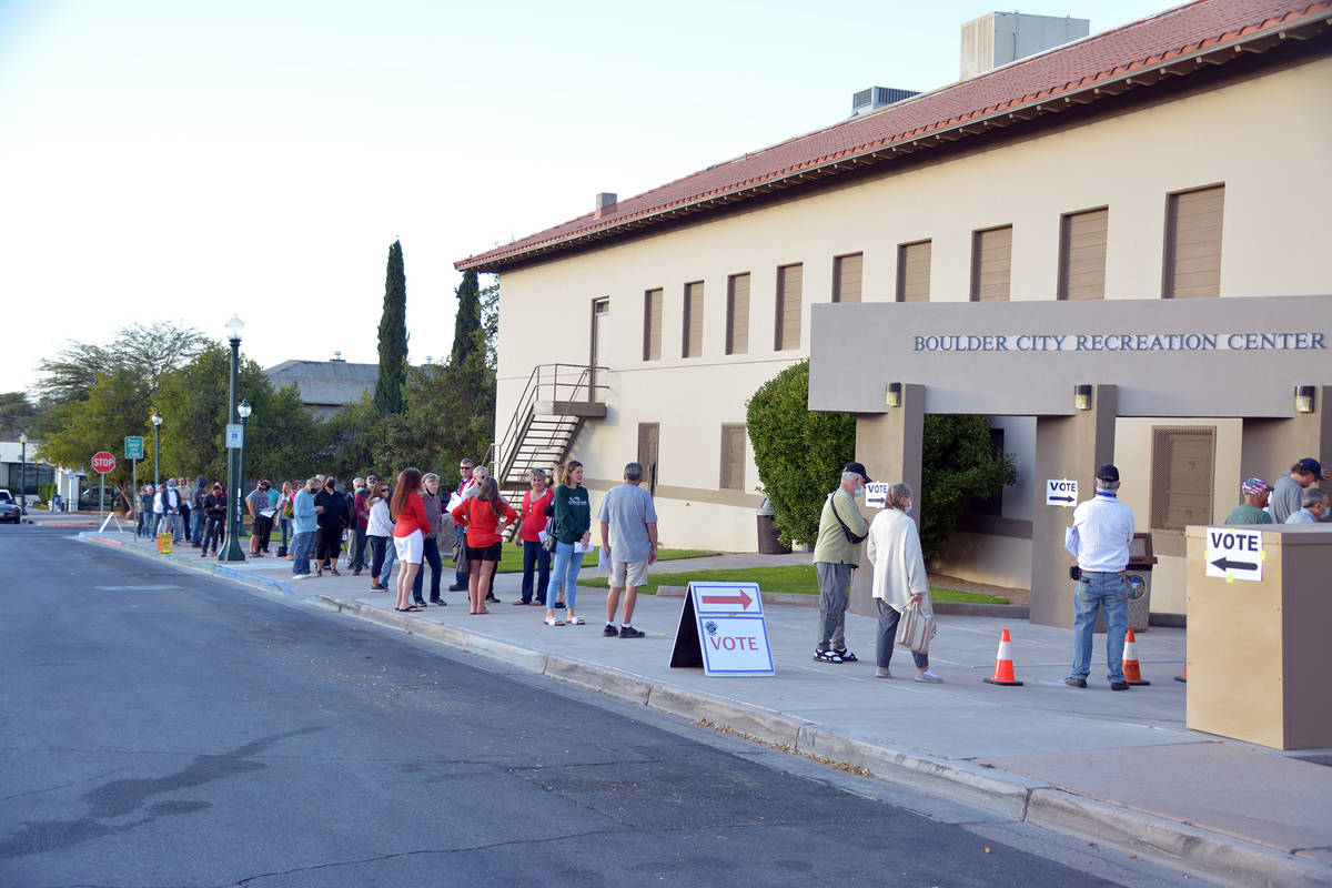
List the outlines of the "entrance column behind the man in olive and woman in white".
{"type": "MultiPolygon", "coordinates": [[[[902,406],[888,407],[886,413],[859,414],[855,418],[855,458],[864,463],[864,470],[875,481],[904,481],[915,491],[911,503],[911,517],[920,523],[920,455],[924,435],[924,386],[903,385],[902,406]]],[[[872,519],[874,511],[860,505],[866,518],[872,519]]],[[[874,583],[872,566],[860,550],[860,567],[851,571],[850,611],[874,616],[878,608],[870,594],[874,583]]]]}

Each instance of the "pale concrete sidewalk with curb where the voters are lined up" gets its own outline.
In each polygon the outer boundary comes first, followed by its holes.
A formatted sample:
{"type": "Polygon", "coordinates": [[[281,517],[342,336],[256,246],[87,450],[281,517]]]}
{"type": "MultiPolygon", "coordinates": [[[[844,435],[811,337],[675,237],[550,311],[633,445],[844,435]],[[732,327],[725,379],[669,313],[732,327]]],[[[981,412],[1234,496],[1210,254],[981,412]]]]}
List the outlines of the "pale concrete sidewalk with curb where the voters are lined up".
{"type": "MultiPolygon", "coordinates": [[[[813,660],[815,614],[767,602],[777,676],[706,678],[701,668],[667,666],[682,607],[678,598],[639,598],[634,624],[647,638],[611,639],[602,636],[605,595],[595,588],[578,591],[586,626],[547,627],[543,608],[511,606],[518,574],[497,578],[503,603],[492,604],[489,615],[469,615],[462,592],[445,592],[448,607],[398,614],[392,594],[372,592],[368,576],[353,578],[349,571],[289,583],[285,559],[218,566],[189,547],[157,555],[129,534],[80,537],[789,751],[848,763],[1014,821],[1119,847],[1221,883],[1332,885],[1332,768],[1189,731],[1187,687],[1172,680],[1184,667],[1184,630],[1139,634],[1139,659],[1152,684],[1116,694],[1095,662],[1091,687],[1063,684],[1072,652],[1070,630],[1011,618],[940,616],[931,666],[944,683],[920,684],[911,680],[915,670],[903,651],[894,655],[898,678],[874,678],[871,618],[847,618],[848,644],[860,662],[831,666],[813,660]],[[1003,628],[1012,632],[1023,687],[982,682],[994,668],[1003,628]]],[[[726,555],[661,568],[770,566],[802,558],[809,555],[726,555]]],[[[1096,652],[1104,658],[1100,639],[1096,652]]]]}

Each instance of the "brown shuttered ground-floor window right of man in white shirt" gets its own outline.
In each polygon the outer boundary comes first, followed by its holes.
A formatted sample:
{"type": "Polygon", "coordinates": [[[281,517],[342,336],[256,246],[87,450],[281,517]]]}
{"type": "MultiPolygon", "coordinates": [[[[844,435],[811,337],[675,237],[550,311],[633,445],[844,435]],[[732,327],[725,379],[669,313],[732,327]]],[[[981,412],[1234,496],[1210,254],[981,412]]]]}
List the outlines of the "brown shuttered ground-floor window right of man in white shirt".
{"type": "Polygon", "coordinates": [[[1152,429],[1152,530],[1212,521],[1216,429],[1152,429]]]}

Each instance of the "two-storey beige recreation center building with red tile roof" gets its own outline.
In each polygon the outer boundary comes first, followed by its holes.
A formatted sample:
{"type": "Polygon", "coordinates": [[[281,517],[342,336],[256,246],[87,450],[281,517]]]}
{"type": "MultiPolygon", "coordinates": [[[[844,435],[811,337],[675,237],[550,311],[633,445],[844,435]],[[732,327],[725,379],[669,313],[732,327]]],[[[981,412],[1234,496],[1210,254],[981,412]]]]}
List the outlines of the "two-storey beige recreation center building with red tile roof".
{"type": "Polygon", "coordinates": [[[745,402],[809,357],[810,407],[860,417],[871,474],[912,477],[888,382],[990,415],[1016,455],[940,568],[1031,586],[1042,619],[1071,560],[1046,474],[1067,457],[1086,490],[1112,457],[1152,610],[1183,612],[1184,526],[1332,442],[1329,9],[1181,7],[458,262],[501,274],[501,461],[567,449],[594,493],[655,462],[665,545],[753,550],[745,402]],[[1079,383],[1090,438],[1051,431],[1079,383]]]}

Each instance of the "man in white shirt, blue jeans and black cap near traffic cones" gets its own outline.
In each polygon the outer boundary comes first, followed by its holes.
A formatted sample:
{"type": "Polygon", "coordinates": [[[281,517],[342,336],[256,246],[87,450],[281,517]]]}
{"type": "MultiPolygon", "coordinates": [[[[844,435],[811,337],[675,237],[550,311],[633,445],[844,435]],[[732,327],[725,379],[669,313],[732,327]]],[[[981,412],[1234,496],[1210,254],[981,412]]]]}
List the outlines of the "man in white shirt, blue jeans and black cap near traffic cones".
{"type": "Polygon", "coordinates": [[[1092,630],[1096,608],[1106,608],[1106,668],[1112,691],[1127,691],[1124,634],[1128,630],[1128,545],[1134,539],[1134,511],[1119,502],[1119,469],[1096,470],[1096,495],[1074,510],[1074,526],[1064,547],[1078,559],[1082,575],[1074,592],[1074,670],[1070,687],[1087,687],[1091,672],[1092,630]]]}

